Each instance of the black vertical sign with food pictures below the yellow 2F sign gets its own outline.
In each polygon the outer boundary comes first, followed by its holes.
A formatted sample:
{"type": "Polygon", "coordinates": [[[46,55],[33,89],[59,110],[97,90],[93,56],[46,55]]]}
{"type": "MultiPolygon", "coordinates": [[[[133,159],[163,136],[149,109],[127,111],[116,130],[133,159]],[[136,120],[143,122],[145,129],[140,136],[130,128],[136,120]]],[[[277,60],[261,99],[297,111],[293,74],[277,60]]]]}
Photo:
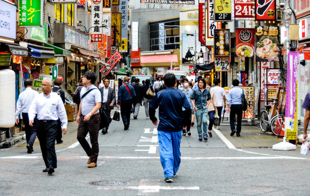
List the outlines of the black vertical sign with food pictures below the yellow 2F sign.
{"type": "Polygon", "coordinates": [[[229,29],[214,29],[214,56],[229,56],[229,29]]]}

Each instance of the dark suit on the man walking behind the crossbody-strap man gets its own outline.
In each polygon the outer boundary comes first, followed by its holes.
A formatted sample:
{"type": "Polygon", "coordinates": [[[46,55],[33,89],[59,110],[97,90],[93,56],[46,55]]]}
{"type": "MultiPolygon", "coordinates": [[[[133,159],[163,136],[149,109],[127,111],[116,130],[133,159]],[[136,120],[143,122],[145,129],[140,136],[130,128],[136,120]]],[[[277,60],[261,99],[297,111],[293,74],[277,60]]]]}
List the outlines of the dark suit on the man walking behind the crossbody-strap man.
{"type": "Polygon", "coordinates": [[[110,104],[115,103],[115,91],[112,87],[108,87],[108,93],[107,93],[106,102],[105,102],[104,97],[103,97],[103,95],[104,95],[103,94],[103,88],[105,88],[105,86],[103,86],[102,88],[99,88],[99,90],[101,92],[103,111],[109,119],[108,126],[103,127],[103,129],[102,129],[102,133],[105,134],[105,132],[107,133],[107,130],[109,128],[109,124],[112,121],[111,110],[113,110],[114,106],[110,106],[110,104]]]}

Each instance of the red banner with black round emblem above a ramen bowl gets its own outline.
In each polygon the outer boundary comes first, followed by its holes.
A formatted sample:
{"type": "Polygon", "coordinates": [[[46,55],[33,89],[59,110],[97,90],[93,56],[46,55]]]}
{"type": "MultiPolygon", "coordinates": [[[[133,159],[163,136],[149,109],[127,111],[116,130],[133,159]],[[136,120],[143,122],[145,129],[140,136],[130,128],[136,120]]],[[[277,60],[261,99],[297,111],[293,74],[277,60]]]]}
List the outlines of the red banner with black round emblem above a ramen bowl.
{"type": "Polygon", "coordinates": [[[255,29],[236,28],[236,56],[253,57],[255,51],[255,29]]]}

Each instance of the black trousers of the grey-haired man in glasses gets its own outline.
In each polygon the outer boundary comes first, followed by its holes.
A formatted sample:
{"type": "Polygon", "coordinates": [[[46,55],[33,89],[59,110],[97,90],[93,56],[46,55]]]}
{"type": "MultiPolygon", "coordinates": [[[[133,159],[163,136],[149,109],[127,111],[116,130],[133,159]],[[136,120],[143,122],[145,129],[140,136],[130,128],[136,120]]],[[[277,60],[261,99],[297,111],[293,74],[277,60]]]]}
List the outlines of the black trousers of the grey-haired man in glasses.
{"type": "Polygon", "coordinates": [[[57,168],[57,157],[55,152],[55,140],[57,135],[57,120],[37,121],[36,134],[40,141],[42,157],[46,167],[57,168]]]}

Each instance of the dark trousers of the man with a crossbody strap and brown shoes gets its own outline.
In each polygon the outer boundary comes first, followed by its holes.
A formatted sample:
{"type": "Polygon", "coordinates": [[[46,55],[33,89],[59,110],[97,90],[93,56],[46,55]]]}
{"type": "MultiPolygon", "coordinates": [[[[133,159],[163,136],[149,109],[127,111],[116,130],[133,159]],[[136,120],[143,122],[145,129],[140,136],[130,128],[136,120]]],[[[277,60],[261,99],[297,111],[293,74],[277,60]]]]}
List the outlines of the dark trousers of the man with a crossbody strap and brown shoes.
{"type": "Polygon", "coordinates": [[[92,156],[91,163],[97,163],[97,158],[99,154],[98,134],[100,126],[100,114],[92,116],[89,121],[84,121],[83,115],[81,115],[80,119],[81,120],[78,127],[78,135],[76,136],[76,138],[80,142],[87,156],[92,156]],[[88,132],[92,148],[90,147],[88,141],[85,139],[88,132]]]}

